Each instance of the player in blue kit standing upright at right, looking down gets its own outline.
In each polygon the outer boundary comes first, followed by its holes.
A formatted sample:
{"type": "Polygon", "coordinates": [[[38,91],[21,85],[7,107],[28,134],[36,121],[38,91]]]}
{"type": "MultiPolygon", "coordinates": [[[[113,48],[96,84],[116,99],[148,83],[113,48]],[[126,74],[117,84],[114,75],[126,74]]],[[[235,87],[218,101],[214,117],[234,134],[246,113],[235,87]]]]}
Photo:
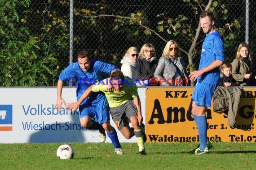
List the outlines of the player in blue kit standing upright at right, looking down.
{"type": "Polygon", "coordinates": [[[191,72],[191,81],[197,83],[192,94],[192,110],[199,133],[199,148],[194,150],[196,155],[209,153],[208,147],[212,147],[207,141],[207,119],[205,111],[211,107],[212,96],[220,82],[219,67],[225,61],[224,43],[221,34],[215,30],[215,18],[211,11],[203,11],[200,14],[200,24],[206,37],[203,42],[199,70],[191,72]],[[207,145],[211,146],[207,146],[207,145]]]}

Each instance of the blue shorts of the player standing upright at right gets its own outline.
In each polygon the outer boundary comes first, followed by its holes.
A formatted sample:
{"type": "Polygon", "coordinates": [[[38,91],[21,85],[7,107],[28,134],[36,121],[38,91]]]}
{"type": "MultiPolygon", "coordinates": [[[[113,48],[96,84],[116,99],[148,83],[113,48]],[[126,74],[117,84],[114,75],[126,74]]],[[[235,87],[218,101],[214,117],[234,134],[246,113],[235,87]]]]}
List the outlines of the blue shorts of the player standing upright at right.
{"type": "Polygon", "coordinates": [[[192,94],[192,101],[197,106],[211,107],[212,96],[217,86],[217,84],[196,83],[192,94]]]}

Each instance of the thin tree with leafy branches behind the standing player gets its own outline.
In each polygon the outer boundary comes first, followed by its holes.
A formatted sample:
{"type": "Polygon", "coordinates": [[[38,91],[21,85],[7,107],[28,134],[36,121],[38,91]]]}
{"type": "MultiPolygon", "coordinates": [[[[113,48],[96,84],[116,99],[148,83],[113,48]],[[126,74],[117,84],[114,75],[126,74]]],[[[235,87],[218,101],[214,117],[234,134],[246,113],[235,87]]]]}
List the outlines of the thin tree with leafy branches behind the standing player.
{"type": "MultiPolygon", "coordinates": [[[[165,1],[161,1],[165,4],[165,1]]],[[[167,2],[168,3],[168,2],[167,2]]],[[[166,4],[167,4],[166,3],[166,4]]],[[[237,19],[228,22],[228,10],[224,4],[221,4],[221,0],[208,0],[207,4],[203,0],[177,0],[172,1],[172,4],[177,6],[182,6],[183,14],[177,13],[177,11],[167,12],[166,9],[159,10],[160,13],[156,16],[158,19],[157,26],[152,24],[152,13],[148,12],[150,9],[144,5],[144,9],[137,9],[136,13],[130,13],[125,16],[124,9],[115,10],[115,13],[108,11],[108,5],[102,4],[98,5],[97,10],[84,10],[86,13],[77,12],[76,15],[83,16],[94,23],[95,26],[100,25],[97,23],[97,18],[115,18],[112,23],[113,30],[123,30],[128,31],[128,26],[137,26],[137,29],[132,32],[133,35],[140,35],[141,30],[146,35],[155,34],[163,42],[167,43],[170,36],[179,40],[181,51],[187,55],[188,59],[188,72],[194,71],[198,67],[194,60],[200,55],[201,43],[205,37],[201,33],[201,26],[199,23],[199,13],[203,10],[214,11],[221,25],[218,30],[222,35],[225,35],[225,43],[227,45],[234,45],[234,34],[232,34],[232,28],[239,28],[239,22],[237,19]],[[102,10],[100,10],[102,9],[102,10]],[[103,10],[104,9],[104,10],[103,10]],[[97,13],[95,12],[97,11],[97,13]],[[171,16],[171,17],[166,17],[171,16]],[[124,28],[126,26],[126,28],[124,28]],[[188,45],[189,44],[189,45],[188,45]]],[[[136,8],[136,7],[135,7],[136,8]]],[[[156,10],[158,7],[154,7],[156,10]]],[[[87,20],[88,21],[88,20],[87,20]]],[[[131,32],[130,32],[131,33],[131,32]]],[[[127,35],[128,36],[128,35],[127,35]]],[[[193,85],[193,83],[192,83],[193,85]]]]}

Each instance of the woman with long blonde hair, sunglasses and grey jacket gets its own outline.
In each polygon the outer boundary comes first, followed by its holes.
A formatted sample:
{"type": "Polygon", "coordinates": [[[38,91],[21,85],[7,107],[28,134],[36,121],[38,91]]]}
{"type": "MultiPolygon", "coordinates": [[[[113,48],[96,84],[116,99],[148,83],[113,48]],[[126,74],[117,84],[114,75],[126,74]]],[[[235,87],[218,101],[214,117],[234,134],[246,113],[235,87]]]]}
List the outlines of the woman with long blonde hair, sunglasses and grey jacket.
{"type": "Polygon", "coordinates": [[[187,86],[188,76],[181,50],[174,40],[168,41],[163,49],[158,66],[154,72],[154,80],[161,86],[187,86]]]}

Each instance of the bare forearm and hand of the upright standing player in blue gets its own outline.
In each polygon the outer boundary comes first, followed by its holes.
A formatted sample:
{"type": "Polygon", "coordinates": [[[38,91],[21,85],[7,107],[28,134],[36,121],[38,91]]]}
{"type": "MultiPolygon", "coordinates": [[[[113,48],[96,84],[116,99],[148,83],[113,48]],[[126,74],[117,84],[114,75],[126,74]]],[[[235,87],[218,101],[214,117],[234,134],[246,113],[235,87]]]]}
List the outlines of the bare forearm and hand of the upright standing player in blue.
{"type": "Polygon", "coordinates": [[[222,63],[223,63],[223,61],[216,59],[210,65],[208,65],[207,67],[202,68],[201,70],[196,70],[194,72],[191,72],[190,75],[189,75],[190,80],[195,81],[203,73],[210,72],[211,70],[220,67],[222,63]]]}

